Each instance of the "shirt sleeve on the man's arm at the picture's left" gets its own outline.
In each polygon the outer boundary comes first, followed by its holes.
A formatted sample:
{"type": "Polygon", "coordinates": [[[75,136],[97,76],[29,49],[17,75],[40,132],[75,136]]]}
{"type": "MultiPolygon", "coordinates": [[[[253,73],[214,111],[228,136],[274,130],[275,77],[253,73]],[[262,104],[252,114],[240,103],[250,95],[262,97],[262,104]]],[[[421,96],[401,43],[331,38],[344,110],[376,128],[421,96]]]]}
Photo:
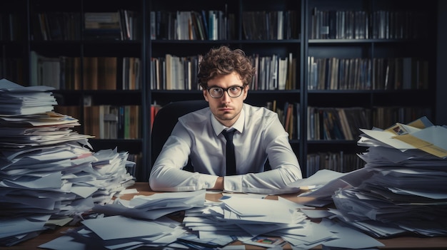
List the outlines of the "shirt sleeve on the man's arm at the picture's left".
{"type": "Polygon", "coordinates": [[[190,147],[188,132],[177,123],[152,167],[149,177],[152,190],[184,192],[214,187],[217,176],[182,170],[188,162],[190,147]]]}

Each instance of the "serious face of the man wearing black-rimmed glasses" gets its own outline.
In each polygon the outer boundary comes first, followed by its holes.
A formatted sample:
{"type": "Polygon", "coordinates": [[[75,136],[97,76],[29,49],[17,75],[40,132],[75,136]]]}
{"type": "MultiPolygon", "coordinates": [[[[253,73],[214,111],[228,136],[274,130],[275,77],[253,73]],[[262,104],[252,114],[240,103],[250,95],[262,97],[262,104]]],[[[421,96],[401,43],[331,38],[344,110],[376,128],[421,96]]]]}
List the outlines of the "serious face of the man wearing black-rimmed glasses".
{"type": "MultiPolygon", "coordinates": [[[[243,87],[243,83],[239,74],[233,72],[228,75],[219,75],[208,81],[208,88],[220,87],[224,90],[231,87],[243,87]]],[[[224,95],[221,98],[211,97],[208,90],[204,89],[204,98],[209,103],[209,108],[211,113],[214,114],[217,120],[226,127],[231,127],[236,120],[238,120],[239,115],[241,115],[243,100],[246,99],[248,93],[248,85],[246,85],[240,96],[236,98],[231,98],[228,92],[231,90],[224,91],[224,95]]]]}

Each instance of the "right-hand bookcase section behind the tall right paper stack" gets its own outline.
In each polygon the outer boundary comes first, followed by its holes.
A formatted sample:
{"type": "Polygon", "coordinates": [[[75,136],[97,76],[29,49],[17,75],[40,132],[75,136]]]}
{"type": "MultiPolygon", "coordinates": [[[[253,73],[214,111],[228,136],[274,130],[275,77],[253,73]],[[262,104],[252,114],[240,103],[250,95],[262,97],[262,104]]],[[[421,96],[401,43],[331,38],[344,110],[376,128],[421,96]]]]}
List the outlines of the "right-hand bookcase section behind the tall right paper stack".
{"type": "MultiPolygon", "coordinates": [[[[434,120],[436,2],[310,0],[306,9],[306,107],[360,108],[368,127],[434,120]]],[[[361,150],[355,142],[308,137],[303,155],[331,165],[361,150]]]]}

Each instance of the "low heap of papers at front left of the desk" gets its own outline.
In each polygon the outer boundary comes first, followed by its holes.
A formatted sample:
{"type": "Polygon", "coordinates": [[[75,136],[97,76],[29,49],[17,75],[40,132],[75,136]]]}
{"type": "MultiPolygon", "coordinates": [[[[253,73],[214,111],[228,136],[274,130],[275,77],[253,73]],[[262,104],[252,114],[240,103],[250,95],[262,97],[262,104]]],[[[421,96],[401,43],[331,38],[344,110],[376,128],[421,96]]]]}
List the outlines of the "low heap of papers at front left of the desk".
{"type": "Polygon", "coordinates": [[[186,231],[180,222],[166,217],[148,221],[111,216],[85,220],[82,224],[84,226],[39,247],[56,250],[148,249],[170,244],[186,231]]]}

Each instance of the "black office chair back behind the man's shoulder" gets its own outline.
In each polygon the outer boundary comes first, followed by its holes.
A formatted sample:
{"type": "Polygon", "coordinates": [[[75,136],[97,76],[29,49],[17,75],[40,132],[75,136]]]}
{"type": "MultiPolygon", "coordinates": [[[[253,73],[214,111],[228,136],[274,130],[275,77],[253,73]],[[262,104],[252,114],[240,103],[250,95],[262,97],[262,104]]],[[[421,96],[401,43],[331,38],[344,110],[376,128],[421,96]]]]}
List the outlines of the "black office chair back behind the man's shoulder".
{"type": "MultiPolygon", "coordinates": [[[[169,103],[159,110],[155,116],[151,132],[151,167],[159,156],[164,142],[171,135],[178,118],[186,113],[206,107],[208,107],[208,103],[205,100],[182,100],[169,103]]],[[[188,162],[184,170],[192,171],[191,162],[188,162]]]]}

